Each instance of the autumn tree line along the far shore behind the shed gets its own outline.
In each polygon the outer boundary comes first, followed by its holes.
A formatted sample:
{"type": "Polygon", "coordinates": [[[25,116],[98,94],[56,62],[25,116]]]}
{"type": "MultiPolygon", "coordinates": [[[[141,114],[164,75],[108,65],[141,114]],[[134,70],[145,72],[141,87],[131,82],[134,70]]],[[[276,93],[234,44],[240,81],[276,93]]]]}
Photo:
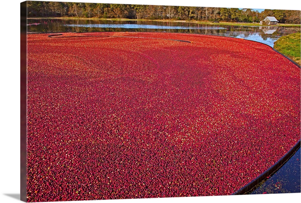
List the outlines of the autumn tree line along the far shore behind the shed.
{"type": "Polygon", "coordinates": [[[279,23],[300,24],[300,11],[271,10],[262,12],[244,8],[192,6],[126,5],[77,2],[27,2],[28,17],[128,18],[149,20],[199,20],[258,23],[274,16],[279,23]]]}

